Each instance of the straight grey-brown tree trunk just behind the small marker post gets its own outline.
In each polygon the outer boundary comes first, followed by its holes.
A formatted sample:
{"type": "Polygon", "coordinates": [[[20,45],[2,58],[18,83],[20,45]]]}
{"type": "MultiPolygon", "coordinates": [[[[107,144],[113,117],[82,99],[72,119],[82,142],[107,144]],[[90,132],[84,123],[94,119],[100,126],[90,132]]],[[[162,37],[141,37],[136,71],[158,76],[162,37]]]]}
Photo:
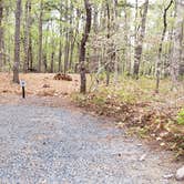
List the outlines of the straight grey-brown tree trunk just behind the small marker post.
{"type": "Polygon", "coordinates": [[[22,2],[21,0],[17,0],[17,9],[16,9],[14,65],[13,65],[13,82],[16,83],[19,83],[21,2],[22,2]]]}

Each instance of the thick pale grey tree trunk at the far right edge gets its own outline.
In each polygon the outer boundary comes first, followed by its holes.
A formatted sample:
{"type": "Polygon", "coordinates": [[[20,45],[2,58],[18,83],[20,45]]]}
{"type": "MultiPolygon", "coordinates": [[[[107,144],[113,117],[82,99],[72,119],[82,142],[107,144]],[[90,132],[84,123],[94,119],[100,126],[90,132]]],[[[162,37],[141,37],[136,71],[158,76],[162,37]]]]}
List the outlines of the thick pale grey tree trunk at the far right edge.
{"type": "Polygon", "coordinates": [[[174,45],[173,45],[173,58],[171,63],[171,76],[173,82],[173,88],[177,88],[178,80],[178,64],[181,62],[181,40],[183,39],[183,10],[184,2],[183,0],[176,0],[176,21],[175,21],[175,31],[174,31],[174,45]]]}

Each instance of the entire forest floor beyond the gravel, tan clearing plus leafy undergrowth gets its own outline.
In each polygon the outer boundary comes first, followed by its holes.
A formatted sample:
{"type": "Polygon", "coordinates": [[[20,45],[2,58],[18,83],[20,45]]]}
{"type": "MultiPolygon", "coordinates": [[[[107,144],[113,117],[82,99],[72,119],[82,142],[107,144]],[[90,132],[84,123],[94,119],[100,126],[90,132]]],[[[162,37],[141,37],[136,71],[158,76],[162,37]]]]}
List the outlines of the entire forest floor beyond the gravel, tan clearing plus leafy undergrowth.
{"type": "Polygon", "coordinates": [[[130,135],[136,133],[152,147],[174,151],[175,157],[184,161],[184,125],[177,123],[177,113],[184,106],[184,83],[180,83],[177,91],[171,91],[171,83],[163,80],[157,94],[152,79],[123,79],[119,85],[108,88],[102,82],[98,91],[81,95],[79,75],[72,74],[70,82],[53,76],[21,74],[28,96],[22,100],[20,85],[11,81],[12,74],[0,73],[0,103],[83,108],[93,115],[113,117],[117,129],[129,127],[130,135]]]}

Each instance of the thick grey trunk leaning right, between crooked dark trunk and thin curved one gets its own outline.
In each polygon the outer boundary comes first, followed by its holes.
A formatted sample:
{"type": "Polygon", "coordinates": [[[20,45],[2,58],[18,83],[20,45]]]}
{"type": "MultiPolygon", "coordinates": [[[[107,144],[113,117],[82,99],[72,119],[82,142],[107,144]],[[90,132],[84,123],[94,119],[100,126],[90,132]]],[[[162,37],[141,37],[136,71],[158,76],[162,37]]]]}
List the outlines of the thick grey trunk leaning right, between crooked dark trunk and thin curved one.
{"type": "Polygon", "coordinates": [[[136,38],[136,45],[135,45],[134,70],[133,70],[133,75],[134,75],[135,79],[139,79],[140,63],[141,63],[142,49],[143,49],[143,40],[144,40],[144,34],[145,34],[145,22],[146,22],[147,10],[149,10],[149,0],[145,0],[144,11],[143,11],[142,21],[141,21],[140,33],[136,38]]]}

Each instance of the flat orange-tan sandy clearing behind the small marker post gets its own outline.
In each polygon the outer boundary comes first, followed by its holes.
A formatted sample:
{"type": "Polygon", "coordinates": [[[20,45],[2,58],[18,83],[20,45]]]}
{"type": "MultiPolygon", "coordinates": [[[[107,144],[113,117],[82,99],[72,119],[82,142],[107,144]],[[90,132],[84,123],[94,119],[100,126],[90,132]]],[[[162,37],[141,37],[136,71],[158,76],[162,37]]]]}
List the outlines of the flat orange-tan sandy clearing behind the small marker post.
{"type": "MultiPolygon", "coordinates": [[[[79,75],[73,74],[73,81],[53,80],[54,74],[29,73],[20,74],[20,80],[27,83],[27,94],[40,96],[63,96],[79,90],[79,75]]],[[[19,84],[12,83],[12,74],[0,73],[0,94],[21,94],[19,84]]]]}

